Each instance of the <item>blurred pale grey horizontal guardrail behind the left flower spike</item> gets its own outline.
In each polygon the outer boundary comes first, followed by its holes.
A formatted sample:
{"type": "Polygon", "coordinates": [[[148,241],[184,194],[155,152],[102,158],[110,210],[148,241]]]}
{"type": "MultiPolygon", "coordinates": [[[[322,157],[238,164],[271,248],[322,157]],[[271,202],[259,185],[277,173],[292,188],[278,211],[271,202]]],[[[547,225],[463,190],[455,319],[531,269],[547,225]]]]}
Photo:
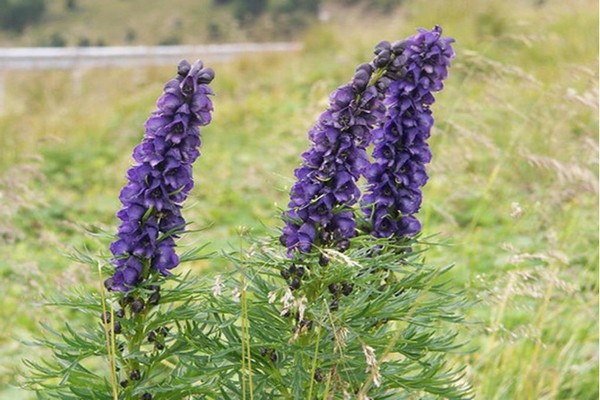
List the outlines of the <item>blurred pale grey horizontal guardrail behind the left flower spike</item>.
{"type": "Polygon", "coordinates": [[[241,54],[291,52],[299,43],[231,43],[185,46],[0,47],[0,70],[78,69],[173,65],[182,58],[222,62],[241,54]]]}

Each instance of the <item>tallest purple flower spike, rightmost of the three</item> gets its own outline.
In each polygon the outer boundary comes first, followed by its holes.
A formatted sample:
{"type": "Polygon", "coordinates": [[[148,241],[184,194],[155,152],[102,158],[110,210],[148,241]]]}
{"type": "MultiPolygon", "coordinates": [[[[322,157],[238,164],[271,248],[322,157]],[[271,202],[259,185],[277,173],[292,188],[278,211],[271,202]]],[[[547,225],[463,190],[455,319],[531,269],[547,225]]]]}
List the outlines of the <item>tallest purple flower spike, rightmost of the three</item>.
{"type": "Polygon", "coordinates": [[[362,201],[375,237],[413,236],[421,230],[414,214],[428,179],[425,164],[431,160],[429,106],[435,100],[432,92],[443,88],[454,56],[454,40],[441,35],[436,26],[390,45],[396,58],[387,75],[392,79],[385,98],[387,112],[371,135],[374,161],[365,169],[367,192],[362,201]]]}

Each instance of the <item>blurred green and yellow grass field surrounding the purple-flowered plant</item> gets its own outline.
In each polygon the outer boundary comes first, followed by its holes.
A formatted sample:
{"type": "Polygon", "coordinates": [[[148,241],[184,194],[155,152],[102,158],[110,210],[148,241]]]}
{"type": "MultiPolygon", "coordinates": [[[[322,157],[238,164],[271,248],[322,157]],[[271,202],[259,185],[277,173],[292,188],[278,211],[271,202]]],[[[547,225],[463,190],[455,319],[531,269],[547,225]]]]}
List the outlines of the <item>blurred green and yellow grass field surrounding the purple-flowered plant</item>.
{"type": "MultiPolygon", "coordinates": [[[[457,56],[434,105],[434,154],[420,216],[448,246],[465,310],[467,365],[480,399],[598,398],[598,5],[573,1],[407,2],[388,16],[335,15],[301,54],[214,65],[215,113],[203,131],[185,213],[188,240],[236,245],[240,227],[279,226],[306,132],[327,94],[379,40],[439,24],[457,56]]],[[[24,346],[60,318],[43,293],[96,285],[62,253],[89,246],[88,224],[116,229],[130,153],[173,68],[1,72],[0,399],[24,346]]],[[[198,264],[197,273],[222,266],[198,264]]],[[[67,315],[66,317],[72,317],[67,315]]]]}

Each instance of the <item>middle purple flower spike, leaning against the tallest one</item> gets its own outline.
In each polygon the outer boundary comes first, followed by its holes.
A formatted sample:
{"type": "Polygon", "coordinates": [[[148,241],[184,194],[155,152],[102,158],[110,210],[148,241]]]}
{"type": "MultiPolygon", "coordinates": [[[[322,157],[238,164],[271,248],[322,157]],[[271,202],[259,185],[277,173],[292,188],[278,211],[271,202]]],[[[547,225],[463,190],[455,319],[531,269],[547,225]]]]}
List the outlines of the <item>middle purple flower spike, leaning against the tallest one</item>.
{"type": "Polygon", "coordinates": [[[313,245],[343,249],[355,234],[356,181],[369,164],[370,130],[385,113],[381,96],[369,85],[374,70],[360,65],[352,81],[330,95],[329,109],[309,132],[312,146],[294,173],[297,181],[283,216],[281,242],[290,254],[307,253],[313,245]]]}

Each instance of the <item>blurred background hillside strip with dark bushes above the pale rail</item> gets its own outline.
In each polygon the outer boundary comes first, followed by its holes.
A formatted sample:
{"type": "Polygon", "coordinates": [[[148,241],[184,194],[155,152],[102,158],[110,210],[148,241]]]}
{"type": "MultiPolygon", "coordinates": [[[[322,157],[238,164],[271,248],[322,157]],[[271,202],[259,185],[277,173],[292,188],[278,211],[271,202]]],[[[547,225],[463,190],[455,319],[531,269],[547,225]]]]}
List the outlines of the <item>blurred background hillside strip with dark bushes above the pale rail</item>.
{"type": "Polygon", "coordinates": [[[159,0],[0,0],[0,44],[77,46],[87,40],[117,46],[285,40],[297,37],[317,21],[321,3],[187,0],[174,6],[159,0]],[[48,40],[52,35],[64,39],[48,40]]]}

